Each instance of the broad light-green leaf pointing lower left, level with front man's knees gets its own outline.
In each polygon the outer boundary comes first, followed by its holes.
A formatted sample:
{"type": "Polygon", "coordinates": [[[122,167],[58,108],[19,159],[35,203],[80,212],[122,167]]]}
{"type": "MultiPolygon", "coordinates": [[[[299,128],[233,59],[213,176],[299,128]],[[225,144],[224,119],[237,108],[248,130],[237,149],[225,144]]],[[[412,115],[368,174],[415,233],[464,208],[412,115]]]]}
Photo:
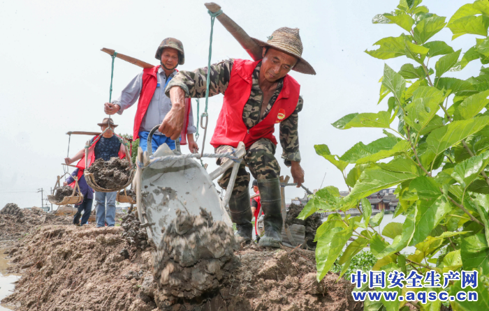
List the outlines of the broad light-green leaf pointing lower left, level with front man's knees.
{"type": "Polygon", "coordinates": [[[355,184],[355,187],[353,187],[350,194],[346,197],[346,201],[367,197],[374,192],[392,187],[403,181],[409,181],[409,179],[415,179],[416,177],[417,175],[413,173],[391,172],[386,169],[370,169],[364,171],[355,184]]]}

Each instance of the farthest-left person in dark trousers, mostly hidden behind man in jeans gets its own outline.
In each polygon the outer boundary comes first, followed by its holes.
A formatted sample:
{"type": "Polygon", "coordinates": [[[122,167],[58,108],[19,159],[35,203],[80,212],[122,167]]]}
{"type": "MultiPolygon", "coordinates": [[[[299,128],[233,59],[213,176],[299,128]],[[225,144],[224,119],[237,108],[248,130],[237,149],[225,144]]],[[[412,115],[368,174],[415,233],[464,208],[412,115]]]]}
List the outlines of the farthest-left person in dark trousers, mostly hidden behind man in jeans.
{"type": "Polygon", "coordinates": [[[71,176],[69,176],[66,181],[64,181],[63,185],[69,185],[71,188],[75,188],[75,179],[74,177],[78,177],[78,186],[80,187],[81,195],[83,195],[83,201],[76,204],[75,208],[78,208],[78,211],[75,213],[75,217],[73,218],[73,225],[85,225],[88,222],[88,218],[90,218],[90,213],[92,213],[92,203],[94,202],[94,190],[90,188],[85,181],[85,176],[83,176],[82,169],[75,169],[71,176]],[[81,172],[80,174],[78,174],[81,172]],[[83,217],[82,217],[83,212],[83,217]],[[82,218],[82,223],[80,224],[80,218],[82,218]]]}

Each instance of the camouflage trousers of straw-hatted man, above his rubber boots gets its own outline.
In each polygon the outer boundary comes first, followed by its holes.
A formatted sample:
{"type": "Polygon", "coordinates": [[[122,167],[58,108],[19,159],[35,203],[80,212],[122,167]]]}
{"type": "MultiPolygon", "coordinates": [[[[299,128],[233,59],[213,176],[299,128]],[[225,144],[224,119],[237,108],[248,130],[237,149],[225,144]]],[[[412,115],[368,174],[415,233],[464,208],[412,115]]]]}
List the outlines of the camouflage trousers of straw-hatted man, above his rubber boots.
{"type": "MultiPolygon", "coordinates": [[[[238,169],[238,176],[234,183],[233,195],[248,191],[249,188],[249,173],[246,171],[245,166],[249,168],[249,171],[255,179],[276,179],[280,176],[280,165],[275,158],[276,146],[270,139],[261,138],[252,144],[247,149],[244,160],[241,162],[240,169],[238,169]]],[[[225,153],[232,151],[232,146],[219,146],[216,148],[216,153],[225,153]]],[[[218,165],[222,165],[224,162],[229,161],[228,158],[220,158],[217,160],[218,165]]],[[[217,182],[223,189],[228,188],[229,179],[231,179],[231,172],[233,167],[224,172],[221,179],[217,182]]]]}

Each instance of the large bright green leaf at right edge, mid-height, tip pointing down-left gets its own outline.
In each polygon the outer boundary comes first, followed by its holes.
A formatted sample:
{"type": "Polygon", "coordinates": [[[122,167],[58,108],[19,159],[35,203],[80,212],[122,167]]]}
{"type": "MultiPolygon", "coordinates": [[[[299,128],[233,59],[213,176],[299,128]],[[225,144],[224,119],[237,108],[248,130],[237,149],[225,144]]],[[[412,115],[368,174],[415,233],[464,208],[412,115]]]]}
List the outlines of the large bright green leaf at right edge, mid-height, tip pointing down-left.
{"type": "Polygon", "coordinates": [[[433,130],[426,139],[427,151],[421,155],[423,166],[428,165],[454,144],[482,130],[489,122],[488,116],[480,116],[470,120],[453,121],[447,126],[433,130]]]}

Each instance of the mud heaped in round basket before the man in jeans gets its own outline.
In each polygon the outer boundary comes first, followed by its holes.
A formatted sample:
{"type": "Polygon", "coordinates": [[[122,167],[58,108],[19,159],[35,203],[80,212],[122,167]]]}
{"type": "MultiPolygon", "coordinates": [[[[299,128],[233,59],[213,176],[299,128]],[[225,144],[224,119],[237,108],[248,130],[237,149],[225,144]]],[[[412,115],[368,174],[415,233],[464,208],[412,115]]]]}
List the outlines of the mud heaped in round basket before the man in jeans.
{"type": "Polygon", "coordinates": [[[97,185],[105,189],[121,188],[129,181],[131,164],[126,160],[111,158],[105,162],[95,160],[88,172],[94,174],[97,185]]]}

